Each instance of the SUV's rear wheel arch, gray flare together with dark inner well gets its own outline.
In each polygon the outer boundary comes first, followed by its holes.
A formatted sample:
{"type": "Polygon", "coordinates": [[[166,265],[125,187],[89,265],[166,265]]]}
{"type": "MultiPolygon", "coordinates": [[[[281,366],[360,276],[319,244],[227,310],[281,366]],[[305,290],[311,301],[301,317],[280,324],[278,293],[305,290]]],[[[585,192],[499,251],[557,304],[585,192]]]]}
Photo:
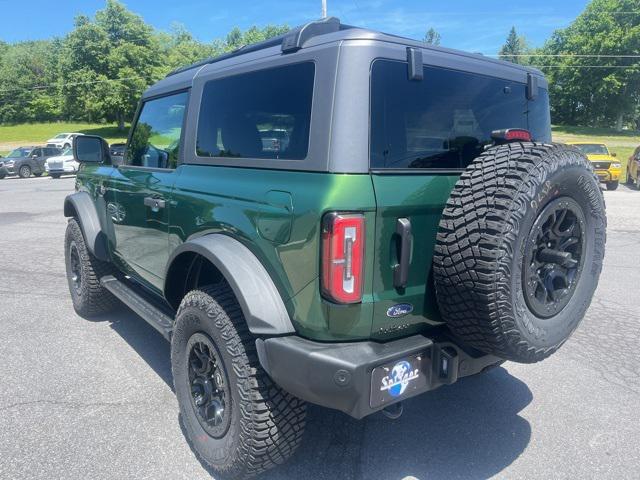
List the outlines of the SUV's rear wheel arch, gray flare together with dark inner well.
{"type": "Polygon", "coordinates": [[[240,241],[208,234],[180,245],[167,262],[164,296],[174,308],[190,290],[224,278],[254,335],[294,333],[282,296],[262,262],[240,241]],[[202,276],[198,281],[198,277],[202,276]]]}

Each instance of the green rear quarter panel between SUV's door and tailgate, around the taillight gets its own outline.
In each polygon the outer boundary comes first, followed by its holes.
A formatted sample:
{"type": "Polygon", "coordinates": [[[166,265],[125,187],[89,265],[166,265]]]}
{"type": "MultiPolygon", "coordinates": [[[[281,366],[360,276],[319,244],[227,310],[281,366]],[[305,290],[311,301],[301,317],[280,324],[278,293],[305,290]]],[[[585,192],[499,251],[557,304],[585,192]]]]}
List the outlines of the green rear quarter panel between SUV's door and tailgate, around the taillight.
{"type": "Polygon", "coordinates": [[[375,197],[369,175],[338,175],[183,165],[171,196],[169,251],[190,238],[224,233],[265,266],[294,327],[318,340],[368,338],[373,317],[372,269],[365,298],[334,305],[320,297],[320,220],[328,211],[365,212],[367,258],[373,258],[375,197]]]}

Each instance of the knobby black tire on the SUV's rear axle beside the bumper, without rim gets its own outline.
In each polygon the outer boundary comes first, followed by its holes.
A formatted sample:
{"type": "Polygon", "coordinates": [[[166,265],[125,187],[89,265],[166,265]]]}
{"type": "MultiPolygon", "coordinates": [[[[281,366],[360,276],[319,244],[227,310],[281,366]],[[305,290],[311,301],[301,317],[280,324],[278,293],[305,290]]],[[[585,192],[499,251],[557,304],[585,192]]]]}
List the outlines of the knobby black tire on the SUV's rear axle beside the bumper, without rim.
{"type": "Polygon", "coordinates": [[[255,338],[226,282],[189,292],[176,315],[171,366],[184,430],[201,461],[224,478],[249,478],[284,463],[298,448],[306,404],[273,383],[258,361],[255,338]],[[230,390],[228,429],[208,434],[189,384],[189,342],[204,334],[215,345],[230,390]]]}

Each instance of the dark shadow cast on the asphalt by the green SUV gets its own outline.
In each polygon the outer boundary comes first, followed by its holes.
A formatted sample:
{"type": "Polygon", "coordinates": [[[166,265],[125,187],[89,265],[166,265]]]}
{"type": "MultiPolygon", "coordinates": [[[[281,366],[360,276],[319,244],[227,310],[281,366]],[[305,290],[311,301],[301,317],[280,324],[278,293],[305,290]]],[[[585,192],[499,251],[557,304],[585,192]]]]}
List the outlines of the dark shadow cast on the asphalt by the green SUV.
{"type": "MultiPolygon", "coordinates": [[[[96,321],[110,321],[173,389],[170,346],[153,327],[125,308],[96,321]]],[[[260,478],[488,478],[527,447],[531,427],[519,412],[532,398],[526,384],[497,368],[406,401],[395,421],[379,413],[357,421],[310,405],[296,455],[260,478]]]]}

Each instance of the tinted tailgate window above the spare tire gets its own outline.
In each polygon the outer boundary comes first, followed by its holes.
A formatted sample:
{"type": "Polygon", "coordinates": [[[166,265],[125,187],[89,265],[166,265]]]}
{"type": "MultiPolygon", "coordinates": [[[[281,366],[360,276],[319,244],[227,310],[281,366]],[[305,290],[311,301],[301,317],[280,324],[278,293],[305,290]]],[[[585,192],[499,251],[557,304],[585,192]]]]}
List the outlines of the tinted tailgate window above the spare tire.
{"type": "Polygon", "coordinates": [[[410,81],[406,63],[378,60],[371,74],[371,167],[464,168],[503,128],[529,129],[549,141],[546,91],[533,102],[525,92],[522,83],[430,66],[422,81],[410,81]]]}

